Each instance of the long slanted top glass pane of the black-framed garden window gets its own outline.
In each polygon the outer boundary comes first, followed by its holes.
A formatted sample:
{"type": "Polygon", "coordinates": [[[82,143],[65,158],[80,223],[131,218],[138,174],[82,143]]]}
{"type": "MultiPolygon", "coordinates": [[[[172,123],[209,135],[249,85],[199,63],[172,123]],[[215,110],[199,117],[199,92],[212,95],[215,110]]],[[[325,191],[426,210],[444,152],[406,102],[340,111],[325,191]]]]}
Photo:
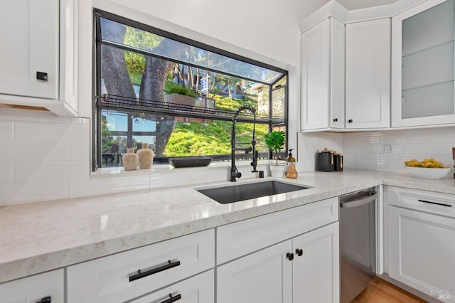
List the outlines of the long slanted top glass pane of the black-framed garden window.
{"type": "Polygon", "coordinates": [[[169,60],[178,60],[264,83],[273,83],[274,80],[283,75],[283,73],[274,70],[229,58],[202,48],[189,46],[186,43],[142,31],[132,26],[125,26],[109,19],[100,18],[100,21],[102,41],[129,46],[132,50],[143,50],[147,53],[161,55],[169,60]]]}

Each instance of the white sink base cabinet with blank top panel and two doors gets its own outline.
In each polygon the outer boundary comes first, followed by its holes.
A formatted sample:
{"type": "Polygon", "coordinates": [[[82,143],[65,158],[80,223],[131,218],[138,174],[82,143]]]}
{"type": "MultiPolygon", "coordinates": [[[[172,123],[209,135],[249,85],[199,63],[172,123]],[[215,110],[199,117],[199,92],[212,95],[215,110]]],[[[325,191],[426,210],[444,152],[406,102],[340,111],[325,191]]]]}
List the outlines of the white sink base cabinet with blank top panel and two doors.
{"type": "Polygon", "coordinates": [[[337,202],[217,228],[217,303],[339,302],[337,202]]]}

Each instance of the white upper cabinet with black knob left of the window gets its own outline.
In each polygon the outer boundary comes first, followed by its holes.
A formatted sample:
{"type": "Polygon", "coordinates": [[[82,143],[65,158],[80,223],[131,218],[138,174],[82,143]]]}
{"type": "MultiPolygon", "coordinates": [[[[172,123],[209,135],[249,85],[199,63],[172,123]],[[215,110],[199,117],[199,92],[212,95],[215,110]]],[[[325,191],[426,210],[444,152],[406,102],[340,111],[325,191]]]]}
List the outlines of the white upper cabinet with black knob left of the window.
{"type": "Polygon", "coordinates": [[[0,10],[0,103],[75,115],[73,0],[6,1],[0,10]]]}

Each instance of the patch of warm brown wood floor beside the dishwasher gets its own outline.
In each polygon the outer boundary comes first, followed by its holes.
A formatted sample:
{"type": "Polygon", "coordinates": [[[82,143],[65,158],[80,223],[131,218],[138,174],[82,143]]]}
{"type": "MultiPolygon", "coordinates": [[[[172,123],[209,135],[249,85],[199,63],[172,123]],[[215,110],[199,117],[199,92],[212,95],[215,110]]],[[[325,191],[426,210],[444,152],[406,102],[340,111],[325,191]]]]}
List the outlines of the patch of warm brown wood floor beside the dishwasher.
{"type": "Polygon", "coordinates": [[[415,297],[414,294],[410,294],[395,285],[390,284],[378,277],[375,277],[370,282],[368,287],[360,292],[352,301],[353,303],[392,303],[392,302],[405,302],[414,303],[424,301],[419,297],[415,297]]]}

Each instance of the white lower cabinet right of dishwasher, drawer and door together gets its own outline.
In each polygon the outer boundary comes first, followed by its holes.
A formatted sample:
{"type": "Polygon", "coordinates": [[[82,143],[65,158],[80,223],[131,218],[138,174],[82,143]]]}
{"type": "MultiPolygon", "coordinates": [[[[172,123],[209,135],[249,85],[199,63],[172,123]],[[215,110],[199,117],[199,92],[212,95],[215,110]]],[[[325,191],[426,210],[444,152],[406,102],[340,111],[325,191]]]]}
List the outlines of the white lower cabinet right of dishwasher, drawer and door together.
{"type": "Polygon", "coordinates": [[[455,302],[455,196],[388,188],[389,275],[455,302]]]}

